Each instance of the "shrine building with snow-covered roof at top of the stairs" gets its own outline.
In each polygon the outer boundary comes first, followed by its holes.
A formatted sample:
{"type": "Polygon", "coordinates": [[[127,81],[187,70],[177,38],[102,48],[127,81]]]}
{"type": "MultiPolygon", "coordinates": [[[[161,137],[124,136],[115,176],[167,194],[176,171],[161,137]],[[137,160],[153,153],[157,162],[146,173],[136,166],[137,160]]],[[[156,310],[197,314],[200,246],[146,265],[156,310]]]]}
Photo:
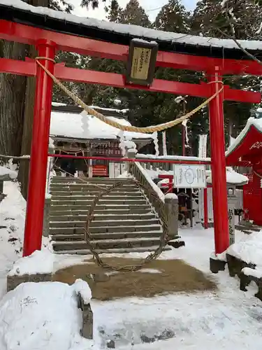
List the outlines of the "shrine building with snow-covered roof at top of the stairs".
{"type": "MultiPolygon", "coordinates": [[[[127,110],[92,108],[107,118],[122,125],[130,125],[127,110]]],[[[145,146],[152,143],[152,134],[121,132],[101,120],[82,113],[78,106],[52,103],[50,138],[54,153],[100,158],[122,158],[121,138],[133,141],[136,149],[143,153],[145,146]]],[[[59,173],[61,159],[55,158],[54,170],[59,173]]],[[[117,177],[124,172],[123,162],[110,160],[74,160],[75,169],[82,176],[117,177]]],[[[60,168],[61,169],[61,168],[60,168]]]]}

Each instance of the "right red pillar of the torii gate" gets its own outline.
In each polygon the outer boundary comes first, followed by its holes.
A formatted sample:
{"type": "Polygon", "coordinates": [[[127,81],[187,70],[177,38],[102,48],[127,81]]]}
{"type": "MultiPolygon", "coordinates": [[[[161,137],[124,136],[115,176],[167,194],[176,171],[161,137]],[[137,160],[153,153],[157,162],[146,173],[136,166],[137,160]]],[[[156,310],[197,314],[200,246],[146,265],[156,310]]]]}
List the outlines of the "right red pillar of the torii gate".
{"type": "MultiPolygon", "coordinates": [[[[216,66],[208,73],[211,93],[214,94],[223,84],[221,72],[216,66]]],[[[224,92],[221,91],[209,104],[214,246],[217,254],[223,253],[229,246],[223,100],[224,92]]]]}

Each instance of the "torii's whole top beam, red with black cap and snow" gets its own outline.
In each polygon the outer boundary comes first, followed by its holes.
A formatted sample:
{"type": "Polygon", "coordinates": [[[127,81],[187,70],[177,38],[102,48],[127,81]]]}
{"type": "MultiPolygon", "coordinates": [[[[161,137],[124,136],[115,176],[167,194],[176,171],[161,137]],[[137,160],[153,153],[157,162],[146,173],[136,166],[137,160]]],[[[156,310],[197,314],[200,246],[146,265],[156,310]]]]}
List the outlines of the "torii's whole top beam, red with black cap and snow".
{"type": "MultiPolygon", "coordinates": [[[[0,38],[30,45],[43,38],[54,41],[58,50],[121,61],[127,60],[131,39],[143,38],[158,42],[157,66],[193,71],[212,71],[219,66],[221,74],[262,74],[262,65],[245,55],[233,40],[156,31],[58,12],[22,1],[0,0],[0,38]],[[25,18],[27,25],[23,25],[25,18]]],[[[240,42],[259,57],[261,42],[240,42]]]]}

